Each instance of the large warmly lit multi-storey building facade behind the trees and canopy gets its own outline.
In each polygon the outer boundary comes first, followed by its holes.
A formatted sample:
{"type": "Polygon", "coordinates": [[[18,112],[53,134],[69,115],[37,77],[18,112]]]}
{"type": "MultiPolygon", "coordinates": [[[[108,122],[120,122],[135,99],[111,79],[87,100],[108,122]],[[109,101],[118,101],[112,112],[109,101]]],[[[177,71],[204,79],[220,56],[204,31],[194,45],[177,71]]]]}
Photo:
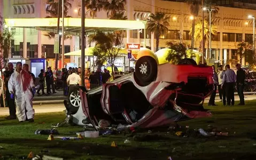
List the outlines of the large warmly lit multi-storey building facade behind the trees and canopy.
{"type": "MultiPolygon", "coordinates": [[[[224,64],[226,62],[235,66],[239,61],[237,52],[237,44],[245,41],[252,41],[253,21],[248,19],[248,15],[255,15],[256,10],[252,10],[256,6],[256,1],[214,1],[219,8],[218,13],[212,16],[212,23],[217,27],[218,34],[212,38],[212,55],[207,58],[219,61],[224,64]]],[[[0,0],[2,6],[2,15],[4,18],[45,18],[50,16],[46,9],[49,7],[47,0],[0,0]]],[[[80,18],[81,1],[74,0],[72,8],[68,10],[68,15],[73,18],[80,18]]],[[[160,0],[127,0],[125,6],[125,14],[128,20],[146,20],[149,19],[151,13],[164,12],[170,15],[169,31],[160,36],[160,48],[165,48],[167,41],[180,41],[179,33],[183,27],[183,42],[191,44],[191,36],[189,34],[192,21],[190,20],[190,7],[187,3],[177,1],[160,1],[160,0]],[[173,20],[173,17],[176,20],[173,20]]],[[[0,8],[1,10],[1,8],[0,8]]],[[[0,11],[1,12],[1,11],[0,11]]],[[[208,15],[207,13],[205,14],[208,15]]],[[[91,18],[90,14],[87,18],[91,18]]],[[[95,19],[107,19],[105,11],[96,13],[95,19]]],[[[197,17],[197,22],[201,19],[201,12],[197,17]]],[[[45,36],[44,31],[28,28],[16,28],[14,35],[14,53],[13,55],[21,55],[22,57],[41,58],[44,55],[48,59],[54,59],[53,44],[54,39],[45,36]],[[27,51],[27,52],[26,52],[27,51]]],[[[144,29],[127,30],[124,43],[146,43],[147,47],[155,50],[156,39],[154,34],[146,31],[146,42],[144,42],[144,29]]],[[[65,41],[65,53],[80,49],[78,36],[73,36],[65,41]]],[[[195,42],[195,48],[198,49],[199,41],[195,42]]],[[[88,45],[87,45],[88,46],[88,45]]],[[[207,46],[207,42],[205,44],[207,46]]],[[[12,55],[12,56],[13,56],[12,55]]],[[[65,62],[74,62],[77,57],[66,57],[65,62]]],[[[243,60],[243,65],[245,65],[243,60]]]]}

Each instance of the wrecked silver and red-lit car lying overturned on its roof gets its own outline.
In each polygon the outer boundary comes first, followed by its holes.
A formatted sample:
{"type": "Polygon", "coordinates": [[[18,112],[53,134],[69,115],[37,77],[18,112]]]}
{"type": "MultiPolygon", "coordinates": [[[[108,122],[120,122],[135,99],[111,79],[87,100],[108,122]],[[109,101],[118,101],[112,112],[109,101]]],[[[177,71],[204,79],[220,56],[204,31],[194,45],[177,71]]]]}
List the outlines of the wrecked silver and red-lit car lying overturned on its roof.
{"type": "Polygon", "coordinates": [[[191,118],[211,116],[204,99],[213,91],[212,67],[198,66],[192,59],[179,65],[159,63],[150,50],[138,53],[135,73],[87,91],[77,90],[77,107],[66,102],[68,123],[92,124],[100,119],[112,124],[156,127],[191,118]]]}

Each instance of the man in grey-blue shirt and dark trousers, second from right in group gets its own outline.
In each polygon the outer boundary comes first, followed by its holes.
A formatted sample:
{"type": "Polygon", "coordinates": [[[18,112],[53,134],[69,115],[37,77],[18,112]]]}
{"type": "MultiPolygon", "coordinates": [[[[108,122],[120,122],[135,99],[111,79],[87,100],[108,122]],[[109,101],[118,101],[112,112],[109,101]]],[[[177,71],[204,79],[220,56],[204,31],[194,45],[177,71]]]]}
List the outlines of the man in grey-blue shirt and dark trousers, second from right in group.
{"type": "Polygon", "coordinates": [[[223,86],[225,87],[227,105],[234,106],[235,105],[234,84],[236,82],[236,74],[234,70],[230,69],[229,65],[226,65],[225,69],[226,71],[224,71],[224,74],[223,74],[221,89],[223,89],[223,86]]]}

